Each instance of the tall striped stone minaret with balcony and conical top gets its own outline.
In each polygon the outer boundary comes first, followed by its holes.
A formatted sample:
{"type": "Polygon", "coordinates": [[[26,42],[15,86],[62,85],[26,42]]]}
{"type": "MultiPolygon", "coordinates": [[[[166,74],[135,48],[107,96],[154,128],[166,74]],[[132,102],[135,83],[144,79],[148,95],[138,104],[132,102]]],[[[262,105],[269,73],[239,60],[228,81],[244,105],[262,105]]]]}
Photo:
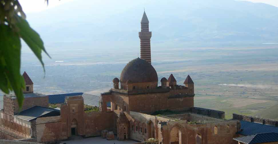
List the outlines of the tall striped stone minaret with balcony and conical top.
{"type": "Polygon", "coordinates": [[[151,64],[151,51],[150,51],[150,38],[152,37],[152,32],[149,31],[149,20],[145,13],[141,20],[141,32],[139,32],[140,38],[140,58],[146,60],[151,64]]]}

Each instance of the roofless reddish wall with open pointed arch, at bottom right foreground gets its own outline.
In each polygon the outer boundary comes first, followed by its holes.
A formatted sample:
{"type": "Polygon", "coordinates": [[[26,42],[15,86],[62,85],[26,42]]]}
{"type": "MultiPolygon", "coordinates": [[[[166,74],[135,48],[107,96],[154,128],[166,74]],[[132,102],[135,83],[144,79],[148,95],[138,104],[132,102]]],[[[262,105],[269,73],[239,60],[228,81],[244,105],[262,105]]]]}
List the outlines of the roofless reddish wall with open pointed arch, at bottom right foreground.
{"type": "Polygon", "coordinates": [[[158,140],[163,144],[170,144],[171,140],[182,144],[236,144],[233,137],[236,137],[237,123],[237,120],[201,124],[188,124],[183,120],[167,121],[160,123],[158,140]]]}

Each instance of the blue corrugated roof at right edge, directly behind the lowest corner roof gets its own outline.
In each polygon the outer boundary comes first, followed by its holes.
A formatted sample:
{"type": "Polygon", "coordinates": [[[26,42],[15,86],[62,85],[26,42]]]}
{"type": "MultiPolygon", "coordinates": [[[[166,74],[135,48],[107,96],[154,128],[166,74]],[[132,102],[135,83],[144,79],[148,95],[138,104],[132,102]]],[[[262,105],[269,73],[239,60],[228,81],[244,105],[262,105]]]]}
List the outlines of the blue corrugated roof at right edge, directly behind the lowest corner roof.
{"type": "Polygon", "coordinates": [[[263,125],[261,123],[253,123],[250,121],[240,121],[241,131],[237,132],[240,135],[255,135],[257,133],[278,133],[278,127],[272,125],[263,125]]]}

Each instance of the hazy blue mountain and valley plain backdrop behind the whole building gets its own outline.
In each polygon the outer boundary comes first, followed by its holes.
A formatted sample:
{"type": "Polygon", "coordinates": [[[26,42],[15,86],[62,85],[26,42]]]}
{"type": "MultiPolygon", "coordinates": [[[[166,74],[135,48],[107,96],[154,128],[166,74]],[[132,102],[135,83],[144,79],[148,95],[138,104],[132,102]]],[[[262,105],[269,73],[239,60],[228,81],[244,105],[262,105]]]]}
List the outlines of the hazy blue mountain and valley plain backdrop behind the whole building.
{"type": "MultiPolygon", "coordinates": [[[[51,1],[50,1],[51,3],[51,1]]],[[[152,65],[158,80],[188,74],[194,106],[278,119],[278,8],[233,0],[71,1],[27,13],[51,59],[26,44],[21,72],[34,92],[100,95],[140,55],[140,18],[150,21],[152,65]],[[209,3],[209,5],[208,5],[209,3]]],[[[160,82],[159,82],[160,85],[160,82]]]]}

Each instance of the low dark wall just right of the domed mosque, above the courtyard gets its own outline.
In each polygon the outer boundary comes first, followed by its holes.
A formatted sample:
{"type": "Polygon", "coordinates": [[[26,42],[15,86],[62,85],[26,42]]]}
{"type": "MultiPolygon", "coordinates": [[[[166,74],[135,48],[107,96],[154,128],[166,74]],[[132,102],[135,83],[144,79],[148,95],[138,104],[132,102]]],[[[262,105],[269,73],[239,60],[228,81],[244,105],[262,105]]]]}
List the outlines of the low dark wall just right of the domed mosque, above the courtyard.
{"type": "Polygon", "coordinates": [[[207,115],[209,117],[225,119],[225,112],[224,111],[192,107],[192,108],[190,108],[190,112],[201,114],[201,115],[207,115]]]}

